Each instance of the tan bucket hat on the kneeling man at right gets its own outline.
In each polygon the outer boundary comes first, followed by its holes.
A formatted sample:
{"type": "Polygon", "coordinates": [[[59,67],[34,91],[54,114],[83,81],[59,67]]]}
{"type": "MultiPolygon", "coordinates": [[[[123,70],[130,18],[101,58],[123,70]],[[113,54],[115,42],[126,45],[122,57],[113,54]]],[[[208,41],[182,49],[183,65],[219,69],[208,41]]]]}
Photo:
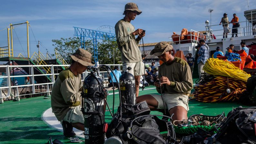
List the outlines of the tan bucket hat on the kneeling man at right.
{"type": "Polygon", "coordinates": [[[160,56],[165,52],[172,50],[173,47],[168,42],[159,42],[155,45],[155,48],[150,52],[150,55],[160,56]]]}

